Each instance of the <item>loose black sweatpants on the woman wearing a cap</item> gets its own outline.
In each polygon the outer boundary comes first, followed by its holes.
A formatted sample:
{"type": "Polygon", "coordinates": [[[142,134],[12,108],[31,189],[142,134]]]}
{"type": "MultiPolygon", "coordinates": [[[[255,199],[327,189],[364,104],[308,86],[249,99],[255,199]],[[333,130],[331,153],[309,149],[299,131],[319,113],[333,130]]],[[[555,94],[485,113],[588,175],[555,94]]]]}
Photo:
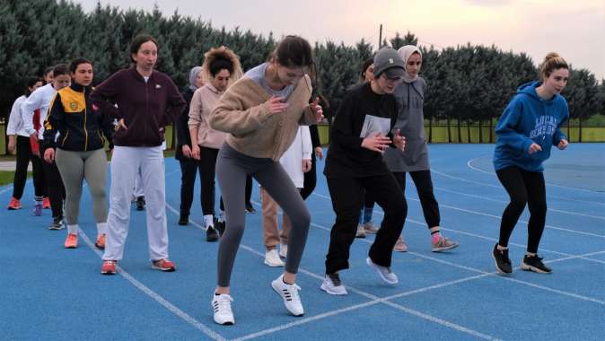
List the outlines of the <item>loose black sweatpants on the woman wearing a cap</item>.
{"type": "Polygon", "coordinates": [[[336,213],[326,256],[326,274],[349,267],[349,249],[359,221],[365,195],[376,198],[384,211],[381,229],[376,233],[369,256],[375,264],[390,267],[392,250],[403,230],[408,204],[391,173],[364,178],[328,178],[329,195],[336,213]]]}

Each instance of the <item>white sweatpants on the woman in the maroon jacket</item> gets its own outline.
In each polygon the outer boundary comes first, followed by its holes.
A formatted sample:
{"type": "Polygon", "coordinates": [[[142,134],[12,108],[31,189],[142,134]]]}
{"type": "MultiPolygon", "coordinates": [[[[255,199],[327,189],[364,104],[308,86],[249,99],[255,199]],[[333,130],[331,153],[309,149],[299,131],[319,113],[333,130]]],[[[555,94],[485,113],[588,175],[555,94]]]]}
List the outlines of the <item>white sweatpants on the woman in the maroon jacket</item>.
{"type": "Polygon", "coordinates": [[[111,158],[110,214],[104,260],[120,260],[130,223],[130,198],[138,170],[145,193],[149,258],[168,258],[166,183],[162,146],[116,146],[111,158]]]}

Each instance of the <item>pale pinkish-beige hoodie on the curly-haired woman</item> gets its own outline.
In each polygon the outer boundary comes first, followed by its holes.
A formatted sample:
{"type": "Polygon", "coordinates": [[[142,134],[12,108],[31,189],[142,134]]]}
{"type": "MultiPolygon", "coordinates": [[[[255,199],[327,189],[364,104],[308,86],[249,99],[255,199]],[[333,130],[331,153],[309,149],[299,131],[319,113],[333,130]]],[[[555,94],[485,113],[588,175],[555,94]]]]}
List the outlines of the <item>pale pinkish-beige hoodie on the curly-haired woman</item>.
{"type": "Polygon", "coordinates": [[[219,149],[228,134],[210,127],[210,113],[223,92],[218,92],[212,83],[206,83],[193,93],[189,105],[189,129],[197,127],[197,145],[219,149]]]}

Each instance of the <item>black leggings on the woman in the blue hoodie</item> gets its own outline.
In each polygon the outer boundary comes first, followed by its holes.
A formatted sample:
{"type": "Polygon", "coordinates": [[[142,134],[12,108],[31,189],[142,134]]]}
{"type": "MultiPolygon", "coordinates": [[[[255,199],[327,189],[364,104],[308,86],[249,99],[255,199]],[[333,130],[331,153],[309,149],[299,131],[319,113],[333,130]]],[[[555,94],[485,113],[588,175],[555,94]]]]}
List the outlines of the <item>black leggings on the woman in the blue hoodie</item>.
{"type": "Polygon", "coordinates": [[[504,247],[508,246],[508,240],[513,233],[514,225],[519,220],[525,204],[527,204],[530,209],[530,222],[527,227],[529,234],[527,251],[531,253],[538,252],[547,211],[544,174],[540,171],[522,170],[515,166],[495,170],[495,174],[502,182],[509,197],[511,197],[511,202],[502,214],[498,244],[504,247]]]}

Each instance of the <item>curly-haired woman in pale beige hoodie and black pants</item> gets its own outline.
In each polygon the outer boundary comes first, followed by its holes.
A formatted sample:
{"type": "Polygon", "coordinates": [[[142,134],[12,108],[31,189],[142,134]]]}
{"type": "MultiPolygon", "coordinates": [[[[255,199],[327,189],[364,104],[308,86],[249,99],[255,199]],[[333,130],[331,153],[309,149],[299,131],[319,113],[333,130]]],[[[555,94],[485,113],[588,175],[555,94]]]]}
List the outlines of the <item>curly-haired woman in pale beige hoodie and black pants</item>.
{"type": "Polygon", "coordinates": [[[206,241],[218,239],[224,230],[224,222],[215,217],[215,166],[218,150],[224,144],[227,133],[210,127],[210,113],[227,87],[241,78],[240,59],[229,48],[210,48],[204,55],[208,82],[197,89],[189,107],[189,133],[191,154],[197,160],[201,179],[201,201],[206,227],[206,241]],[[218,230],[218,232],[217,232],[218,230]]]}

